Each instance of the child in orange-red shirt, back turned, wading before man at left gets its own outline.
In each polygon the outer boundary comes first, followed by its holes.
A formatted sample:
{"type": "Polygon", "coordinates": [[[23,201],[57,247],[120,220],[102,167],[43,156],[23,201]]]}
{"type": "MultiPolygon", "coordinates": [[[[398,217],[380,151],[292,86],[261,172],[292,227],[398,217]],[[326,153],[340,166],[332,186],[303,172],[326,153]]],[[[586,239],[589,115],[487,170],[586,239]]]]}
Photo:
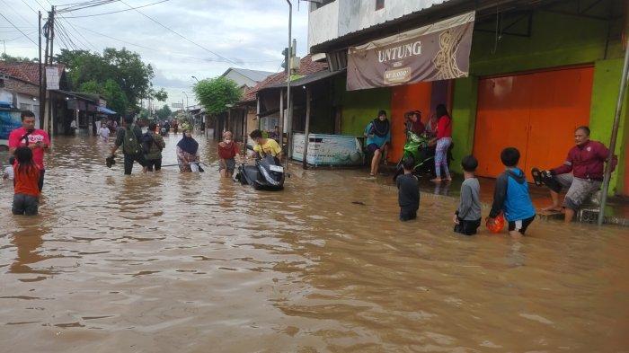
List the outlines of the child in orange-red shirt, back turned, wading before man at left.
{"type": "Polygon", "coordinates": [[[37,215],[40,204],[40,168],[32,160],[32,150],[22,146],[15,149],[17,163],[13,165],[13,215],[37,215]]]}

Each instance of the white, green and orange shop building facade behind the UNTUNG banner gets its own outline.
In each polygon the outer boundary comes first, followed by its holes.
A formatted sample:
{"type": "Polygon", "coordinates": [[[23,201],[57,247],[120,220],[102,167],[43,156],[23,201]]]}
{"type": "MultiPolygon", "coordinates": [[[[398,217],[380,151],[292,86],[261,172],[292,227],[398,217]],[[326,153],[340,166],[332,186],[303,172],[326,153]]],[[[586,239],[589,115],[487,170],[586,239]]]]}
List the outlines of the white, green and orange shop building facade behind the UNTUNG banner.
{"type": "MultiPolygon", "coordinates": [[[[573,130],[588,125],[592,138],[609,144],[626,42],[627,3],[557,1],[350,1],[312,4],[310,52],[346,62],[348,49],[474,11],[466,77],[347,91],[337,80],[341,132],[362,134],[377,110],[390,112],[394,161],[402,153],[403,112],[436,104],[453,116],[454,170],[465,154],[480,161],[478,173],[495,177],[505,146],[522,153],[520,166],[552,168],[573,146],[573,130]],[[359,7],[357,7],[359,6],[359,7]],[[336,19],[336,20],[335,20],[336,19]],[[336,25],[333,23],[336,21],[336,25]],[[325,24],[325,25],[324,25],[325,24]],[[328,26],[329,25],[329,26],[328,26]]],[[[626,99],[625,99],[626,103],[626,99]]],[[[629,195],[625,151],[629,128],[621,117],[616,154],[620,163],[610,190],[629,195]]]]}

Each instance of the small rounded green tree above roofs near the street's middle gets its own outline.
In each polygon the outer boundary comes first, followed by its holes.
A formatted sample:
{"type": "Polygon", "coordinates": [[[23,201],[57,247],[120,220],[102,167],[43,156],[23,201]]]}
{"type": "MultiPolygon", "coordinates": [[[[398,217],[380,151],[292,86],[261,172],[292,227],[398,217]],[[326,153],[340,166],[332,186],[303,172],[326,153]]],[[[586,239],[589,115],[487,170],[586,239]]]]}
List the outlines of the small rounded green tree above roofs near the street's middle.
{"type": "Polygon", "coordinates": [[[234,104],[241,98],[238,84],[223,76],[201,80],[193,89],[197,100],[209,114],[220,114],[227,110],[226,104],[234,104]]]}

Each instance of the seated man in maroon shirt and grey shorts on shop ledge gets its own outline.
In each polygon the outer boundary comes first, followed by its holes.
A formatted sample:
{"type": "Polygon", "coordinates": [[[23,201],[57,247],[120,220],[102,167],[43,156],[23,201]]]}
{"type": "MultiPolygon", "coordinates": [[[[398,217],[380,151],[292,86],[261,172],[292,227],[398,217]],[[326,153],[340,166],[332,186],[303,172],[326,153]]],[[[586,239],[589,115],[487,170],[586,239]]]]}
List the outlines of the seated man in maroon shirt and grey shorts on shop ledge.
{"type": "MultiPolygon", "coordinates": [[[[603,171],[609,156],[609,150],[598,141],[589,139],[589,128],[579,127],[574,131],[577,146],[571,148],[562,165],[545,171],[545,183],[550,189],[553,205],[545,210],[561,211],[565,209],[565,223],[570,223],[581,204],[600,189],[603,171]],[[563,205],[559,205],[559,192],[567,188],[563,205]]],[[[616,167],[616,156],[612,159],[612,170],[616,167]]]]}

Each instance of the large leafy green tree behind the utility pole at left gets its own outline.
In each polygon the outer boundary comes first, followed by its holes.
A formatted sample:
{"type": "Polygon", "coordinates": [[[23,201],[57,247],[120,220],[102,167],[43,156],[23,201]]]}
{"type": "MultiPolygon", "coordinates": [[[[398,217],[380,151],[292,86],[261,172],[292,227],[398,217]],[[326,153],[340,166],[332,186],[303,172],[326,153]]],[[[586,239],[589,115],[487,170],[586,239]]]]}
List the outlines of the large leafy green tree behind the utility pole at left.
{"type": "MultiPolygon", "coordinates": [[[[107,48],[102,55],[86,50],[61,49],[56,60],[66,66],[72,87],[83,87],[88,82],[102,86],[103,95],[108,97],[108,105],[120,113],[129,106],[137,106],[140,100],[155,93],[151,84],[155,76],[153,67],[142,62],[139,54],[127,49],[107,48]],[[120,107],[123,110],[117,110],[120,107]]],[[[93,85],[87,87],[93,88],[93,85]]],[[[163,90],[158,93],[160,98],[164,98],[164,95],[167,98],[163,90]]]]}

